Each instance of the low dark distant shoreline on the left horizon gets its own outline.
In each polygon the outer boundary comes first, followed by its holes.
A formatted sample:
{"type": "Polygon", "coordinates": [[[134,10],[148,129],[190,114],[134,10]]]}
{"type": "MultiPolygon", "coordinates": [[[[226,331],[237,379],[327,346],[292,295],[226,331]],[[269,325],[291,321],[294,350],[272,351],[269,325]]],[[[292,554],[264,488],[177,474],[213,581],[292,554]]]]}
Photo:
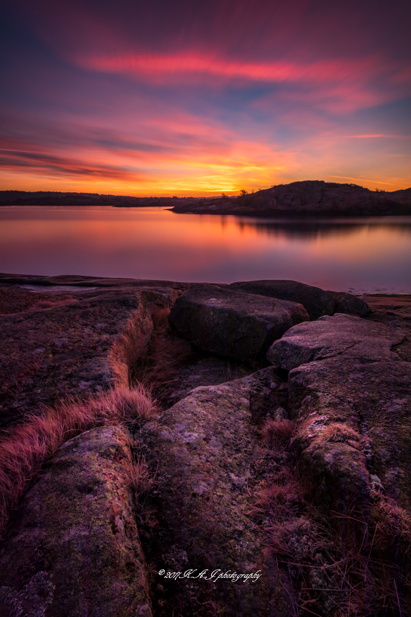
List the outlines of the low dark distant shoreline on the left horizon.
{"type": "Polygon", "coordinates": [[[136,207],[197,202],[198,197],[131,197],[57,191],[0,191],[0,205],[114,205],[136,207]]]}

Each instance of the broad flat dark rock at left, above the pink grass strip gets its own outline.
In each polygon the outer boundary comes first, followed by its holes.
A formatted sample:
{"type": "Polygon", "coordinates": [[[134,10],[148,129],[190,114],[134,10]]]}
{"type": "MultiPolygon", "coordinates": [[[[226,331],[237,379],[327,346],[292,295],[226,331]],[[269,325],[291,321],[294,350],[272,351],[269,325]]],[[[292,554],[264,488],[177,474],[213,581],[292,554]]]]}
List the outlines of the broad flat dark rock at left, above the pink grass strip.
{"type": "Polygon", "coordinates": [[[10,428],[62,397],[127,384],[129,366],[150,340],[150,312],[169,307],[179,293],[178,284],[174,289],[87,277],[52,280],[54,284],[35,276],[0,280],[0,428],[10,428]],[[35,283],[34,288],[47,283],[51,291],[27,291],[15,287],[16,280],[35,283]],[[79,291],[81,283],[95,288],[79,291]],[[62,284],[76,291],[62,292],[62,284]],[[59,291],[53,292],[54,286],[59,291]]]}

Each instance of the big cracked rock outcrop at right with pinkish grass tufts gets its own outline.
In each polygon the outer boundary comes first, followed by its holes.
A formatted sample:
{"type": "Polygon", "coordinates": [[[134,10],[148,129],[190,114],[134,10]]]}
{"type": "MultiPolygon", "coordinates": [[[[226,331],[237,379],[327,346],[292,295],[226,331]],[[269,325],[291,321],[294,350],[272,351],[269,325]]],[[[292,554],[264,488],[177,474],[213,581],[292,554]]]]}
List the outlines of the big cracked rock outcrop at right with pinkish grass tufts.
{"type": "Polygon", "coordinates": [[[334,315],[291,328],[267,354],[290,371],[290,413],[301,420],[292,447],[319,490],[334,494],[337,509],[366,499],[370,473],[409,507],[411,357],[397,352],[403,343],[397,328],[334,315]]]}

